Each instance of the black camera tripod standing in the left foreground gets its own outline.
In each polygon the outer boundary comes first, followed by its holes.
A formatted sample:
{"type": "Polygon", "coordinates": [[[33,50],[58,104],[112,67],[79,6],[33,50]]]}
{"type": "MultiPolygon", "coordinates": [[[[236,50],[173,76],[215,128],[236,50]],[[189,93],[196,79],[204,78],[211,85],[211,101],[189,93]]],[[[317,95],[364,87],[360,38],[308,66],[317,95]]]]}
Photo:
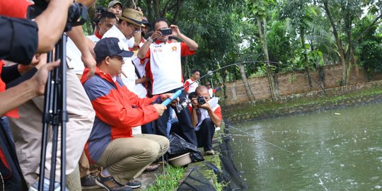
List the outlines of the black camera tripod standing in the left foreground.
{"type": "Polygon", "coordinates": [[[61,190],[65,190],[66,187],[66,122],[69,120],[66,112],[66,38],[67,36],[63,34],[61,40],[57,42],[54,52],[51,51],[47,54],[47,62],[52,62],[52,55],[54,54],[54,60],[61,59],[61,64],[50,71],[45,87],[39,191],[44,190],[45,158],[47,154],[48,129],[50,127],[52,127],[52,159],[49,190],[54,190],[59,133],[61,135],[61,190]]]}

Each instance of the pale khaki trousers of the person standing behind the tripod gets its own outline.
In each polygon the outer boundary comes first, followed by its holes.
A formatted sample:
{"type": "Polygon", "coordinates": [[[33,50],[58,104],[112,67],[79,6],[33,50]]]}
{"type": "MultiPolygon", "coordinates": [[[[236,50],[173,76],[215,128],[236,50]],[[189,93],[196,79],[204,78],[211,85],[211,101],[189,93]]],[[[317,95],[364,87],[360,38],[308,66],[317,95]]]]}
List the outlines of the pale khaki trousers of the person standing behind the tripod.
{"type": "MultiPolygon", "coordinates": [[[[69,114],[69,122],[66,123],[66,175],[68,175],[74,171],[79,162],[96,114],[73,69],[66,71],[66,93],[66,110],[69,114]]],[[[10,119],[18,160],[28,185],[32,185],[37,179],[36,173],[39,170],[43,107],[44,97],[34,98],[18,108],[20,115],[18,119],[10,119]]],[[[50,175],[51,137],[49,133],[45,163],[47,178],[50,175]]],[[[58,145],[60,140],[61,137],[58,145]]],[[[61,149],[58,147],[57,150],[56,181],[59,182],[61,149]]]]}

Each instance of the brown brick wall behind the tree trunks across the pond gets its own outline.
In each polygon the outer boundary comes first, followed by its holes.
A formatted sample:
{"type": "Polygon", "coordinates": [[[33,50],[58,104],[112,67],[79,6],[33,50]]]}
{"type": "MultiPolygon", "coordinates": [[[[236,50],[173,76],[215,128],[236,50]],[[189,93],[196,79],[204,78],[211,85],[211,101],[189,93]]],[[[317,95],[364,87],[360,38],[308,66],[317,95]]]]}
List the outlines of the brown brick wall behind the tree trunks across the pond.
{"type": "MultiPolygon", "coordinates": [[[[293,71],[287,74],[279,74],[277,79],[277,94],[280,97],[293,96],[294,94],[307,93],[310,91],[320,91],[322,88],[336,88],[340,86],[340,80],[342,79],[342,66],[340,64],[332,64],[323,66],[320,72],[311,71],[312,85],[310,89],[308,78],[306,74],[301,71],[293,71]],[[322,80],[323,79],[323,80],[322,80]],[[321,87],[322,88],[321,88],[321,87]]],[[[381,75],[374,76],[374,80],[380,80],[381,75]]],[[[350,73],[349,85],[366,83],[367,76],[364,69],[359,69],[358,75],[354,69],[350,73]]],[[[270,86],[267,76],[248,79],[250,89],[254,94],[256,100],[266,100],[271,98],[270,86]]],[[[236,105],[238,103],[248,102],[247,94],[242,80],[235,81],[233,83],[226,83],[226,105],[236,105]]]]}

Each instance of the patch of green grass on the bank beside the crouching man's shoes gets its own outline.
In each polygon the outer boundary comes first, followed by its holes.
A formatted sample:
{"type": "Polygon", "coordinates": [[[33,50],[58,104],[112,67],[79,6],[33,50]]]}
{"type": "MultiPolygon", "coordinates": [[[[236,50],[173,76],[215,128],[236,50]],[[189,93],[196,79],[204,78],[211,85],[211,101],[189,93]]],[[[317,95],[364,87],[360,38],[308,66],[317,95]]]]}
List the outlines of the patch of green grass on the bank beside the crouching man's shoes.
{"type": "Polygon", "coordinates": [[[185,168],[166,166],[166,175],[158,175],[155,185],[151,185],[146,190],[149,191],[165,191],[175,190],[179,186],[179,181],[183,178],[185,168]]]}

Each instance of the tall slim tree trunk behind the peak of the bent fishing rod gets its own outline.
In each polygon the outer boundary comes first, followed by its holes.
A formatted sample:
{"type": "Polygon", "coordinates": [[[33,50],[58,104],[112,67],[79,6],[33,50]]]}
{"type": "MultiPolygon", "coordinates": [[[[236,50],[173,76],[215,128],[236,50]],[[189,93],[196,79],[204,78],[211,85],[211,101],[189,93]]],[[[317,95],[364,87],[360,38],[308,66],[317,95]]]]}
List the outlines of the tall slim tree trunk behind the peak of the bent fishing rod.
{"type": "Polygon", "coordinates": [[[276,98],[276,93],[274,91],[274,79],[272,75],[272,70],[270,69],[270,57],[268,55],[268,47],[267,47],[267,37],[265,35],[267,34],[267,20],[263,18],[263,23],[261,23],[261,18],[260,16],[257,16],[257,28],[259,30],[260,34],[260,41],[262,44],[262,52],[264,54],[264,60],[265,60],[265,65],[267,69],[267,77],[268,77],[268,82],[270,83],[270,93],[272,96],[272,99],[276,98]],[[264,31],[262,30],[262,24],[264,25],[264,31]]]}

